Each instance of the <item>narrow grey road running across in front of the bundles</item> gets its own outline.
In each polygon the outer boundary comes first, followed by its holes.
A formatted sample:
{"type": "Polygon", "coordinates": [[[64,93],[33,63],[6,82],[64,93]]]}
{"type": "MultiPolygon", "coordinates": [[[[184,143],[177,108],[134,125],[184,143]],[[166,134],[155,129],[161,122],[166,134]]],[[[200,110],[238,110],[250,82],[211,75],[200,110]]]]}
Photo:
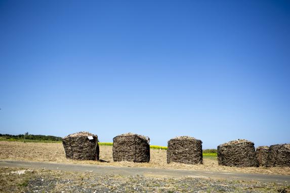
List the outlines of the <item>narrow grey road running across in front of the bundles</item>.
{"type": "Polygon", "coordinates": [[[88,164],[67,164],[52,162],[29,162],[15,160],[0,160],[0,167],[21,167],[29,169],[47,169],[61,171],[92,172],[97,174],[114,175],[142,175],[145,177],[196,177],[228,180],[245,180],[261,182],[277,182],[290,184],[288,175],[269,175],[269,174],[245,174],[232,172],[208,172],[208,171],[189,171],[177,169],[157,169],[145,167],[118,167],[118,166],[96,166],[88,164]]]}

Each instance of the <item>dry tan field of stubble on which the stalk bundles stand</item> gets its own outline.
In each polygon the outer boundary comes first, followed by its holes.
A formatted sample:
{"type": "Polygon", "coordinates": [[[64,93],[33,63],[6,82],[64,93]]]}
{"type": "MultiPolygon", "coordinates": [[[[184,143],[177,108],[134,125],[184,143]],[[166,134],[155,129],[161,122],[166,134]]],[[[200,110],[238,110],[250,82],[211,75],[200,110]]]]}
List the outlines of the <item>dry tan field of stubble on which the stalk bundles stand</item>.
{"type": "Polygon", "coordinates": [[[60,163],[85,163],[106,166],[152,167],[184,170],[228,171],[242,173],[262,173],[290,175],[290,167],[248,167],[236,168],[219,166],[217,160],[204,158],[203,164],[187,165],[179,163],[167,164],[166,150],[150,150],[149,163],[113,162],[112,146],[100,146],[101,161],[75,161],[66,159],[62,143],[23,143],[18,141],[0,141],[0,159],[29,160],[60,163]]]}

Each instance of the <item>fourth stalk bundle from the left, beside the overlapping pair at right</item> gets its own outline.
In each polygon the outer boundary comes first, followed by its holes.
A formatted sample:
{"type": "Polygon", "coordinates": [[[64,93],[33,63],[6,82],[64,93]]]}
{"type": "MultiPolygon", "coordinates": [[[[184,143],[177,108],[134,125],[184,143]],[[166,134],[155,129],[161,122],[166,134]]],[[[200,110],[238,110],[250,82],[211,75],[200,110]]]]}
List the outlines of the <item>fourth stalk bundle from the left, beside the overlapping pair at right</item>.
{"type": "Polygon", "coordinates": [[[218,163],[223,166],[258,167],[254,143],[238,139],[219,145],[218,163]]]}

